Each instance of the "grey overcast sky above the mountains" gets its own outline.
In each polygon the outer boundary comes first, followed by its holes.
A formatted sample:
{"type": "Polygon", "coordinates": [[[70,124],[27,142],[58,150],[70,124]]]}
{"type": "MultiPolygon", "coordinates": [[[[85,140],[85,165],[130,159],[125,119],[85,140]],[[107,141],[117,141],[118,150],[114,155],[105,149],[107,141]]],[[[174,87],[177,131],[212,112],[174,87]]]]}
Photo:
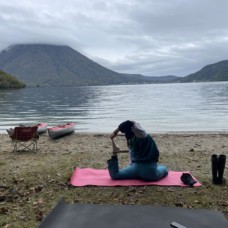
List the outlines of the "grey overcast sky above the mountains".
{"type": "Polygon", "coordinates": [[[228,59],[227,0],[0,1],[0,51],[67,45],[123,73],[186,76],[228,59]]]}

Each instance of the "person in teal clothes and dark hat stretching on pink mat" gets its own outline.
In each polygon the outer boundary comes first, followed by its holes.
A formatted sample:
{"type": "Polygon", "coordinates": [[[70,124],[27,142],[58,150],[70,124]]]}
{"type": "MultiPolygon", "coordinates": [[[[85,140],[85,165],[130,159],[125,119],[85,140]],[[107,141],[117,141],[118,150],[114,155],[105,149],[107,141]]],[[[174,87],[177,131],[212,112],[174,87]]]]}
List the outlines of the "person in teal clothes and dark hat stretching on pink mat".
{"type": "Polygon", "coordinates": [[[158,181],[168,175],[168,168],[158,164],[159,150],[155,141],[140,124],[130,120],[124,121],[112,133],[111,140],[114,140],[119,131],[125,134],[131,164],[119,169],[117,153],[114,153],[107,161],[111,179],[158,181]]]}

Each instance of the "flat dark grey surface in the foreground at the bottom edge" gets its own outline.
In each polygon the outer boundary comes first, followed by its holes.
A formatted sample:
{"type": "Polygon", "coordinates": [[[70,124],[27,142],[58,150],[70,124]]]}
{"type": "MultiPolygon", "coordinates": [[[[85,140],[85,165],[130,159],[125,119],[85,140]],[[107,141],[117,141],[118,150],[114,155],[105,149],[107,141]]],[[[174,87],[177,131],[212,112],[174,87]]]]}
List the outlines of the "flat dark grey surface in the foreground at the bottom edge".
{"type": "Polygon", "coordinates": [[[66,204],[61,200],[39,228],[171,227],[227,228],[222,213],[160,206],[66,204]]]}

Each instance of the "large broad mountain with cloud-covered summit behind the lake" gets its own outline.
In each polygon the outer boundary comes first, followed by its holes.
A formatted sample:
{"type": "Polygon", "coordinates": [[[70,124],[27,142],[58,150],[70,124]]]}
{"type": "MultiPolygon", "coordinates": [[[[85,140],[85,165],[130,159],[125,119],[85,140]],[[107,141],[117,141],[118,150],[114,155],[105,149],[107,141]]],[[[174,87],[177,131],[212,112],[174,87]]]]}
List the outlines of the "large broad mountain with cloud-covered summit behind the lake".
{"type": "Polygon", "coordinates": [[[0,52],[0,69],[27,86],[158,83],[173,77],[146,77],[109,70],[68,46],[14,45],[0,52]]]}

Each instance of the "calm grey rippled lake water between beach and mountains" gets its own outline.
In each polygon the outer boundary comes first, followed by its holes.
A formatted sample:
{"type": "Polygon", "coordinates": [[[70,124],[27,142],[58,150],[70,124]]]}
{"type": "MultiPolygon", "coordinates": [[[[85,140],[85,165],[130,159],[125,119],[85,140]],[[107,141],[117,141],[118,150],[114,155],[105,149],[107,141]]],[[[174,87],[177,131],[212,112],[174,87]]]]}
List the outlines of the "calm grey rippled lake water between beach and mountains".
{"type": "Polygon", "coordinates": [[[78,132],[111,132],[135,120],[150,133],[228,128],[228,82],[0,90],[0,132],[22,123],[73,121],[78,132]]]}

